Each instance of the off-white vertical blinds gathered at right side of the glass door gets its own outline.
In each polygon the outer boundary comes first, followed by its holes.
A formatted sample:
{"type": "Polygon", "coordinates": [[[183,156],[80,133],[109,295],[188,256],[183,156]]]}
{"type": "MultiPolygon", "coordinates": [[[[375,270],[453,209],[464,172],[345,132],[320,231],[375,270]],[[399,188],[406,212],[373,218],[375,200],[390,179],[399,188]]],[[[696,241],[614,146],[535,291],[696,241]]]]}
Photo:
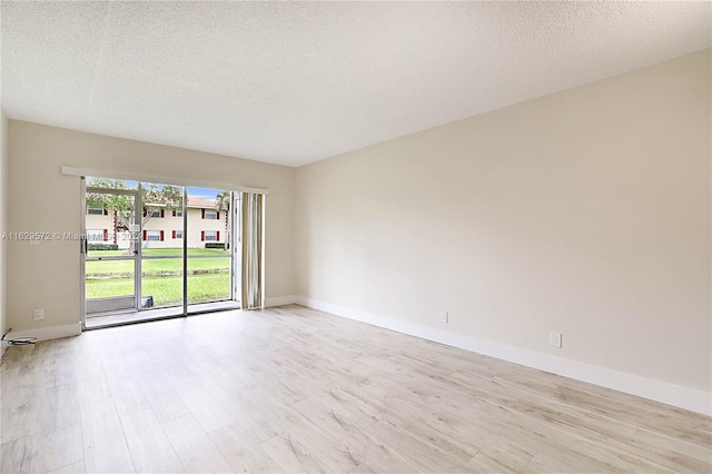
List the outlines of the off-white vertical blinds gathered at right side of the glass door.
{"type": "Polygon", "coordinates": [[[243,192],[243,309],[265,306],[265,196],[243,192]]]}

